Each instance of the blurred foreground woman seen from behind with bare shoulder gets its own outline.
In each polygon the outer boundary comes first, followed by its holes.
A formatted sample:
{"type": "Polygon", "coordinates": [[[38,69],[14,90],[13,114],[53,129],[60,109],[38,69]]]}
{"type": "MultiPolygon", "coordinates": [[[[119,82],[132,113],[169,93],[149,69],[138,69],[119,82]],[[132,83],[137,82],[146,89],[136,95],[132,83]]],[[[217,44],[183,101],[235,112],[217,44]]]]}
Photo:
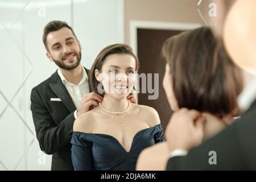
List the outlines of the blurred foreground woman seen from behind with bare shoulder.
{"type": "MultiPolygon", "coordinates": [[[[163,87],[172,110],[187,107],[203,113],[204,140],[229,125],[239,111],[242,75],[212,31],[202,27],[172,36],[162,53],[167,61],[163,87]]],[[[137,169],[165,170],[168,158],[162,142],[142,152],[137,169]]]]}

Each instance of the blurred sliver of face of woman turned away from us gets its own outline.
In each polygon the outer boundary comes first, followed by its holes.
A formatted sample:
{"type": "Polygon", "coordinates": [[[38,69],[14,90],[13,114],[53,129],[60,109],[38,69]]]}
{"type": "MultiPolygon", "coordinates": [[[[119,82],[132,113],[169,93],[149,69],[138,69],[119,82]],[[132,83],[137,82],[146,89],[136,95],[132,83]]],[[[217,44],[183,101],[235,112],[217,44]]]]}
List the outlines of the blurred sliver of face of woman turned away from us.
{"type": "Polygon", "coordinates": [[[171,109],[173,111],[176,111],[179,109],[179,106],[177,104],[177,100],[174,96],[174,89],[172,86],[172,76],[170,74],[170,66],[169,64],[166,64],[166,72],[164,74],[163,78],[163,88],[166,92],[167,100],[171,106],[171,109]]]}

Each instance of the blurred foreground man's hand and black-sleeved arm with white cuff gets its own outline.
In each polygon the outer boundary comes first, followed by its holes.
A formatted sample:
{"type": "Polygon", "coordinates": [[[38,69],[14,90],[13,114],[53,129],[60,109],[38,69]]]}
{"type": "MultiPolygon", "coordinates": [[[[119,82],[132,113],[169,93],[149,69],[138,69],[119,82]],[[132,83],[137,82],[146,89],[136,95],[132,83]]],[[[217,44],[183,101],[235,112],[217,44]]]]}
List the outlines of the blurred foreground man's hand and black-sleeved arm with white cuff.
{"type": "Polygon", "coordinates": [[[200,113],[186,109],[181,109],[172,117],[166,132],[171,152],[167,170],[256,169],[256,101],[232,126],[192,148],[203,138],[201,123],[193,125],[198,117],[200,113]],[[172,133],[180,127],[183,129],[179,134],[172,133]]]}

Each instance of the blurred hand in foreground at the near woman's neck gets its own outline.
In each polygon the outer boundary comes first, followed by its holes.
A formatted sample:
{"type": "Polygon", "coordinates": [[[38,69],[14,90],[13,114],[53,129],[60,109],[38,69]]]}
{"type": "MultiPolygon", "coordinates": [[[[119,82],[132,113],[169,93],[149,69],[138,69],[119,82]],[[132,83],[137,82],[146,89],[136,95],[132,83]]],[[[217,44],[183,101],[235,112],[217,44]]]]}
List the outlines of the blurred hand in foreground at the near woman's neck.
{"type": "Polygon", "coordinates": [[[166,127],[166,140],[169,151],[183,149],[189,151],[199,145],[204,137],[205,119],[196,110],[182,108],[174,113],[166,127]]]}

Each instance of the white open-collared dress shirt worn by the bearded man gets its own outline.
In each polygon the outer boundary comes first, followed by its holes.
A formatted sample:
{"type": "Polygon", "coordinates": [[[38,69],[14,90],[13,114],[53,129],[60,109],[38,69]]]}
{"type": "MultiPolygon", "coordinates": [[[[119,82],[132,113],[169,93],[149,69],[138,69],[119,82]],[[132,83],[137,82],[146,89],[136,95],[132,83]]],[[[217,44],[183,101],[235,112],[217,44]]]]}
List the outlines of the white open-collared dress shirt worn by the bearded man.
{"type": "MultiPolygon", "coordinates": [[[[63,82],[65,88],[68,90],[68,93],[71,96],[72,101],[76,106],[76,109],[79,109],[81,102],[82,102],[82,96],[84,96],[84,94],[90,92],[88,76],[87,76],[85,69],[82,68],[82,79],[80,80],[78,85],[68,82],[68,80],[61,73],[60,69],[57,70],[57,73],[60,76],[61,81],[63,82]]],[[[74,117],[75,117],[75,119],[77,118],[77,110],[74,112],[74,117]]]]}

